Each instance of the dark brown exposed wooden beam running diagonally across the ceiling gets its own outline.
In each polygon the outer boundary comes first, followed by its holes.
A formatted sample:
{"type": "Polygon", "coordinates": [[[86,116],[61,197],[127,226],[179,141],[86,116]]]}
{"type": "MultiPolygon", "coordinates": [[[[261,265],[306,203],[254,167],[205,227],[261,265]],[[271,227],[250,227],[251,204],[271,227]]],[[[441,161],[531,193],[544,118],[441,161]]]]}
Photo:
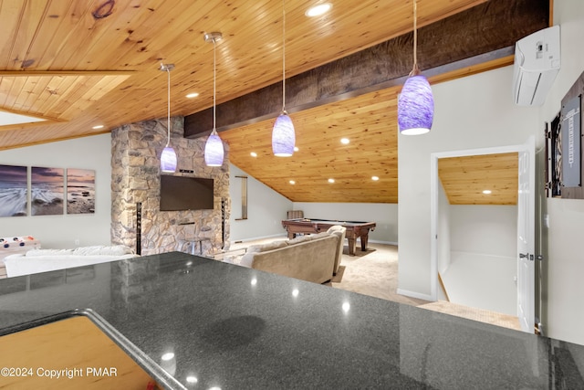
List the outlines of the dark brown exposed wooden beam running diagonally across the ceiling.
{"type": "MultiPolygon", "coordinates": [[[[513,54],[515,42],[549,26],[543,0],[491,0],[418,29],[418,65],[432,77],[513,54]],[[518,12],[517,10],[520,10],[518,12]]],[[[401,85],[412,69],[412,33],[382,42],[286,80],[288,112],[401,85]]],[[[217,131],[275,118],[282,109],[278,82],[216,107],[217,131]]],[[[213,108],[185,117],[184,136],[207,135],[213,108]]]]}

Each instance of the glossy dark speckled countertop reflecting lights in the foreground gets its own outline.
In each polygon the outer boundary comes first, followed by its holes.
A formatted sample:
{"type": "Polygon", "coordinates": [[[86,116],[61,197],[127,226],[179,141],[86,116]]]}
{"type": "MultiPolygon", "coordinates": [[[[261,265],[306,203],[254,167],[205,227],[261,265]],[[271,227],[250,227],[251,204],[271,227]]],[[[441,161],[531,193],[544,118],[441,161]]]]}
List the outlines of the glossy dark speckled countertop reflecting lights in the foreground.
{"type": "Polygon", "coordinates": [[[584,346],[180,252],[0,279],[0,328],[74,309],[186,388],[584,388],[584,346]]]}

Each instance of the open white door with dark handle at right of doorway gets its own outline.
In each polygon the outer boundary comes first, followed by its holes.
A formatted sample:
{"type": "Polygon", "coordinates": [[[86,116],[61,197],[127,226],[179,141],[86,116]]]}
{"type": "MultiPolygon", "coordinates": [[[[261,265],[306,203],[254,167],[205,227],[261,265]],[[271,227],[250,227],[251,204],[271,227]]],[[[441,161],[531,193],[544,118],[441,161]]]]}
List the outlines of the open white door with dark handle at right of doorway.
{"type": "Polygon", "coordinates": [[[535,142],[529,138],[519,152],[519,194],[517,196],[517,316],[523,332],[535,328],[535,142]]]}

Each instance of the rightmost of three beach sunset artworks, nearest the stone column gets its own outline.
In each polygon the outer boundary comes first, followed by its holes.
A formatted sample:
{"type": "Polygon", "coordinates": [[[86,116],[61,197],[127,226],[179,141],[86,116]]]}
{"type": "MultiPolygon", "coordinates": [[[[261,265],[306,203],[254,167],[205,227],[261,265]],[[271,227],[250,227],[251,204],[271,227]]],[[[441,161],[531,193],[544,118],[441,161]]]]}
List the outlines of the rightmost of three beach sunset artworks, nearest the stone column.
{"type": "Polygon", "coordinates": [[[67,169],[67,214],[95,213],[95,171],[67,169]]]}

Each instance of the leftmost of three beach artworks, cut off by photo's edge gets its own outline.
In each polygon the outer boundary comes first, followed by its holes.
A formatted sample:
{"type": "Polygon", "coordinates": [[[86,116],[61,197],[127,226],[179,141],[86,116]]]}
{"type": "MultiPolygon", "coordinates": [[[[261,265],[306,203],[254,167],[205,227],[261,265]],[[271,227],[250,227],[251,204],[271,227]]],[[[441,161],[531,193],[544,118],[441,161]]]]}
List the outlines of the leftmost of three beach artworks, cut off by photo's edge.
{"type": "Polygon", "coordinates": [[[26,216],[27,167],[0,165],[0,216],[26,216]]]}

